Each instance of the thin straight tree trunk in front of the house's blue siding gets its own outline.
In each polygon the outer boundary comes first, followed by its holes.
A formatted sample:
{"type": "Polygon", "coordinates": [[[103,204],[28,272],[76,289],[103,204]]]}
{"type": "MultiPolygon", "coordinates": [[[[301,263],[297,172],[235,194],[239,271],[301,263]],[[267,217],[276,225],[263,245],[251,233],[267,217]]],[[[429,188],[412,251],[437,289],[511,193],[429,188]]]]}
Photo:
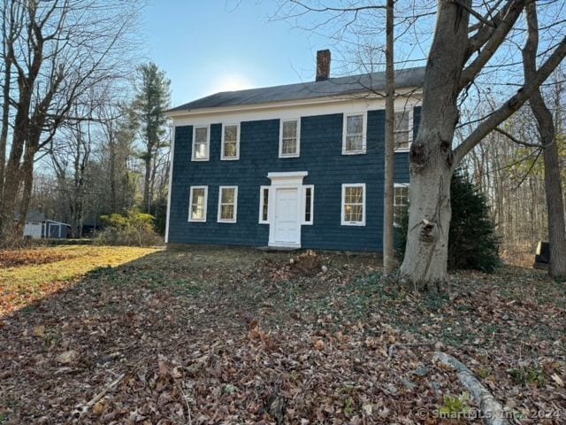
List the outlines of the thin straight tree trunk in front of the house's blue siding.
{"type": "Polygon", "coordinates": [[[394,0],[386,10],[386,146],[383,199],[383,273],[392,274],[394,258],[394,169],[395,169],[395,80],[394,80],[394,0]]]}

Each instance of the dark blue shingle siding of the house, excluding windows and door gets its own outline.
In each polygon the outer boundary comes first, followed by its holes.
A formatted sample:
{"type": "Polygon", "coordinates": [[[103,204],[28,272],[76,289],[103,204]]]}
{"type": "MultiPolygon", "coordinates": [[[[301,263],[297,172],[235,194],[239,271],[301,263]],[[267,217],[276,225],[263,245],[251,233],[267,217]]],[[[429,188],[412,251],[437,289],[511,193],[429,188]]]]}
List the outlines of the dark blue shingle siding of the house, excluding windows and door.
{"type": "MultiPolygon", "coordinates": [[[[221,124],[210,126],[210,160],[191,161],[192,126],[175,129],[169,243],[265,246],[259,224],[260,186],[268,173],[308,171],[314,184],[314,224],[302,226],[302,248],[381,251],[385,112],[368,112],[367,153],[342,155],[341,113],[302,117],[300,158],[279,157],[279,120],[241,122],[240,159],[220,160],[221,124]],[[366,184],[366,225],[341,226],[342,183],[366,184]],[[209,187],[207,221],[188,222],[190,186],[209,187]],[[218,223],[218,186],[238,186],[237,223],[218,223]]],[[[417,110],[415,111],[417,123],[417,110]]],[[[395,179],[409,182],[409,154],[395,155],[395,179]]]]}

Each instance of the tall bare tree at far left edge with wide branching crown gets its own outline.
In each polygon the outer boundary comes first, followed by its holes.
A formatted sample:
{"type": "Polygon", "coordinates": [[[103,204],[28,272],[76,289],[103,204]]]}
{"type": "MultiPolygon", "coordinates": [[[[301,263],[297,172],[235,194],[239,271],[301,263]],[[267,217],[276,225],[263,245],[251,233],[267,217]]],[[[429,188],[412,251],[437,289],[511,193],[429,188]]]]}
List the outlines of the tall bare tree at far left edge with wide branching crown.
{"type": "Polygon", "coordinates": [[[10,17],[4,19],[3,28],[3,89],[13,111],[7,113],[13,116],[8,123],[11,140],[6,138],[0,146],[4,155],[10,146],[8,158],[0,158],[3,240],[21,235],[36,154],[65,120],[85,118],[71,117],[73,104],[101,81],[117,78],[127,64],[127,35],[136,22],[137,4],[134,0],[3,0],[1,12],[10,17]],[[20,220],[14,228],[19,197],[20,220]]]}

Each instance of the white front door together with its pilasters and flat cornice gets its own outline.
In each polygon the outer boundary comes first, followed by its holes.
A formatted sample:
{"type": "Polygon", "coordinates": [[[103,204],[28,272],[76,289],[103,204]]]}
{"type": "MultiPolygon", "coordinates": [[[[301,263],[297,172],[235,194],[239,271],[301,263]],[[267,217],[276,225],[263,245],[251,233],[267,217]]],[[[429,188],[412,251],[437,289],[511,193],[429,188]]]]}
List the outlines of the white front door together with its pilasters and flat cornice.
{"type": "Polygon", "coordinates": [[[269,173],[269,246],[301,248],[301,224],[304,211],[302,180],[306,171],[269,173]]]}

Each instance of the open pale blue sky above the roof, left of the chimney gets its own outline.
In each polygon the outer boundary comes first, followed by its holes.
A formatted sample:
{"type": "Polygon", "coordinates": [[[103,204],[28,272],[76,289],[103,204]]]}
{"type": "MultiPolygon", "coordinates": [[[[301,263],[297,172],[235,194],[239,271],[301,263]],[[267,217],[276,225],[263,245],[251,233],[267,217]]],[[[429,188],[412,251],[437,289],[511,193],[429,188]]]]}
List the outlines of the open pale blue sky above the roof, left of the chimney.
{"type": "Polygon", "coordinates": [[[272,1],[152,0],[143,12],[144,44],[172,80],[172,104],[314,79],[316,52],[328,40],[270,20],[274,12],[272,1]]]}

